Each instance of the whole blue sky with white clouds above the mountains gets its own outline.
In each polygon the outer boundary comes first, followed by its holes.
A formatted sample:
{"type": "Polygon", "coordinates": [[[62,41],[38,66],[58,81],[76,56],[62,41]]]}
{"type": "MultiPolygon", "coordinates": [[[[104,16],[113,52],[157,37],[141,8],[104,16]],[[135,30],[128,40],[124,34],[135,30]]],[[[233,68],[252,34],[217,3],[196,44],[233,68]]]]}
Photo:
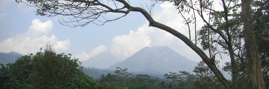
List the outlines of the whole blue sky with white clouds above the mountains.
{"type": "MultiPolygon", "coordinates": [[[[151,2],[130,0],[130,4],[135,7],[145,7],[145,3],[151,2]]],[[[26,55],[39,52],[47,42],[51,42],[57,53],[71,53],[80,61],[105,51],[110,51],[123,61],[146,46],[168,46],[189,60],[201,61],[201,58],[177,37],[161,29],[149,27],[149,22],[138,12],[130,12],[126,17],[103,26],[88,24],[72,28],[60,24],[57,16],[39,16],[35,10],[36,8],[22,3],[17,4],[14,0],[0,0],[0,52],[13,51],[26,55]]],[[[189,37],[188,31],[184,29],[183,19],[175,7],[169,3],[156,4],[155,10],[155,21],[189,37]]],[[[108,16],[114,18],[118,15],[108,16]]],[[[197,29],[203,25],[203,22],[198,22],[197,29]]],[[[194,37],[192,31],[191,38],[194,37]]],[[[201,47],[199,44],[198,46],[201,47]]],[[[221,64],[230,60],[227,54],[221,56],[222,59],[217,56],[221,64]]]]}

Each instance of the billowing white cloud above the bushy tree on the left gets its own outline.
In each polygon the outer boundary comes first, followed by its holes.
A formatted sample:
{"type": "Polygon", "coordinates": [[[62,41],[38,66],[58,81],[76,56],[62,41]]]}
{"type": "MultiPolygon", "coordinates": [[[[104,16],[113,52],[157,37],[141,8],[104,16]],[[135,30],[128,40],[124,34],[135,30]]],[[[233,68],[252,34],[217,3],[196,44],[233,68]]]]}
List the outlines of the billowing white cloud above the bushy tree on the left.
{"type": "Polygon", "coordinates": [[[67,50],[70,45],[69,39],[58,41],[55,35],[46,36],[52,28],[53,24],[50,20],[41,22],[39,19],[35,19],[25,34],[18,34],[0,42],[0,51],[7,53],[14,51],[21,54],[36,53],[49,41],[54,45],[56,51],[67,50]]]}

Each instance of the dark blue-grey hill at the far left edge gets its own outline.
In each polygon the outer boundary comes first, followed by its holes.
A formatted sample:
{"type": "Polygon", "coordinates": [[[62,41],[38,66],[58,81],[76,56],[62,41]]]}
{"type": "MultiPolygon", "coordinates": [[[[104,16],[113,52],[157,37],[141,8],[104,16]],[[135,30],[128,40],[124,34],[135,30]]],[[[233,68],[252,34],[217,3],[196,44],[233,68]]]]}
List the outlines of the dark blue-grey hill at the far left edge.
{"type": "Polygon", "coordinates": [[[1,53],[0,52],[0,63],[7,64],[7,63],[14,63],[19,57],[23,55],[16,52],[10,53],[1,53]]]}

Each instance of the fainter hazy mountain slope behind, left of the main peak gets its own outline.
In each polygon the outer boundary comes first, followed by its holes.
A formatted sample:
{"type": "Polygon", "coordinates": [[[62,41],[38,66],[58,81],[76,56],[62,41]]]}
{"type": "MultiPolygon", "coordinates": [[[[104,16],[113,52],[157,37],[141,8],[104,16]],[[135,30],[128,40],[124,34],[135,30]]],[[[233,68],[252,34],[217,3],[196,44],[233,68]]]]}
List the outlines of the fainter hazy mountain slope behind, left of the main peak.
{"type": "Polygon", "coordinates": [[[109,66],[117,62],[120,62],[120,60],[115,56],[111,55],[110,51],[106,51],[85,61],[82,61],[82,66],[107,69],[109,66]]]}

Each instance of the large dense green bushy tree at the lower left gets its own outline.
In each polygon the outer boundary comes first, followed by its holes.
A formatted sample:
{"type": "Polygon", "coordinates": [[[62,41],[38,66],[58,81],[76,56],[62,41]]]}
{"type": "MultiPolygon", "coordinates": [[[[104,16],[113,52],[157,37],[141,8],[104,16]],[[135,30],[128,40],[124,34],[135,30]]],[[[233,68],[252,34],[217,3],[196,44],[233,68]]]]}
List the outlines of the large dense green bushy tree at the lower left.
{"type": "Polygon", "coordinates": [[[15,63],[1,64],[0,83],[4,89],[97,89],[78,59],[71,54],[56,54],[51,45],[44,52],[18,58],[15,63]]]}

